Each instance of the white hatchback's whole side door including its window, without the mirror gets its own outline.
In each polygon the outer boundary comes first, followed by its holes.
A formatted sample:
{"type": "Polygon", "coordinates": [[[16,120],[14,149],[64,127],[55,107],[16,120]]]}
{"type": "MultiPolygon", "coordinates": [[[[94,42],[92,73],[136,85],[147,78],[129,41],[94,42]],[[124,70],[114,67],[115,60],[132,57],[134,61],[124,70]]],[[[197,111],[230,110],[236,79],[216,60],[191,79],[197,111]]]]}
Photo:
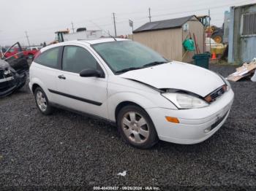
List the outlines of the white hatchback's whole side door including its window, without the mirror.
{"type": "Polygon", "coordinates": [[[59,71],[57,87],[59,104],[68,108],[108,118],[108,75],[99,66],[97,58],[89,49],[80,46],[65,46],[62,55],[62,71],[59,71]],[[84,69],[97,69],[102,77],[80,77],[84,69]]]}

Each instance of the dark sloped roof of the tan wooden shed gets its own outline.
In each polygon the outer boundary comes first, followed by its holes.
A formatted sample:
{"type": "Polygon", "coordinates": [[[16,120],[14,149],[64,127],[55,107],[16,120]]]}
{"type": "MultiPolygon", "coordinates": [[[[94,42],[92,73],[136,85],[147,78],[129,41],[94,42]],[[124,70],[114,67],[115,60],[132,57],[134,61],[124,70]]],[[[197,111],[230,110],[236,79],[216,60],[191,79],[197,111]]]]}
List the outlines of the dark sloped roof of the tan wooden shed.
{"type": "Polygon", "coordinates": [[[146,23],[143,26],[137,28],[135,31],[133,31],[133,33],[139,33],[143,31],[156,31],[169,28],[180,28],[184,25],[184,23],[187,23],[187,21],[190,20],[192,17],[195,17],[195,15],[146,23]]]}

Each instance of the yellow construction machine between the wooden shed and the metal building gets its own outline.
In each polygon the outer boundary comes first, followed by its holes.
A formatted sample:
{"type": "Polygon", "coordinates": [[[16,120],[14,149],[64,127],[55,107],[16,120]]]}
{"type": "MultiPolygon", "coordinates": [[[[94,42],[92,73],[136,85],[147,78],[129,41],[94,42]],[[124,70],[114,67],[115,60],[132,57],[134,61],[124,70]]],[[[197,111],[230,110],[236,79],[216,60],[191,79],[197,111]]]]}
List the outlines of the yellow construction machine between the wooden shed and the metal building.
{"type": "Polygon", "coordinates": [[[208,34],[208,37],[214,39],[214,41],[218,44],[223,42],[223,27],[219,28],[217,26],[209,26],[211,17],[209,17],[208,15],[197,16],[197,18],[200,20],[201,23],[203,23],[203,26],[205,27],[206,30],[206,34],[208,34]]]}

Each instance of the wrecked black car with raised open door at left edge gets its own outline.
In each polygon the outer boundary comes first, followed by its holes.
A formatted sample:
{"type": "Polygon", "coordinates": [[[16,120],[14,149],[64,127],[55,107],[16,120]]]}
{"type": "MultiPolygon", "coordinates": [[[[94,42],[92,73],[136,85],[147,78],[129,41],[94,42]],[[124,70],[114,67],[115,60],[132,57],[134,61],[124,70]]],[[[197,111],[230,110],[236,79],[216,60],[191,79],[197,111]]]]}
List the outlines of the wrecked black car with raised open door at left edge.
{"type": "Polygon", "coordinates": [[[10,95],[26,84],[26,71],[29,71],[29,63],[23,55],[19,42],[13,44],[6,52],[2,52],[1,49],[0,98],[10,95]],[[16,45],[19,51],[7,57],[6,53],[16,49],[16,45]]]}

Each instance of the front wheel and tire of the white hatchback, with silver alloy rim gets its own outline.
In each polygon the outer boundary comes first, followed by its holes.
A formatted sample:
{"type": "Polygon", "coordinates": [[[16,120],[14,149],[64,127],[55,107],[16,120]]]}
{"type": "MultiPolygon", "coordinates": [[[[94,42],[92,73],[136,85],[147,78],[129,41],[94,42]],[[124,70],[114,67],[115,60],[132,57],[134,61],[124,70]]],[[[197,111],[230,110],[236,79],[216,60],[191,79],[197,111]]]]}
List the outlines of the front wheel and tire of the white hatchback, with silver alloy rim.
{"type": "Polygon", "coordinates": [[[117,125],[121,137],[133,147],[148,149],[158,141],[154,123],[139,106],[124,106],[118,112],[117,125]]]}

